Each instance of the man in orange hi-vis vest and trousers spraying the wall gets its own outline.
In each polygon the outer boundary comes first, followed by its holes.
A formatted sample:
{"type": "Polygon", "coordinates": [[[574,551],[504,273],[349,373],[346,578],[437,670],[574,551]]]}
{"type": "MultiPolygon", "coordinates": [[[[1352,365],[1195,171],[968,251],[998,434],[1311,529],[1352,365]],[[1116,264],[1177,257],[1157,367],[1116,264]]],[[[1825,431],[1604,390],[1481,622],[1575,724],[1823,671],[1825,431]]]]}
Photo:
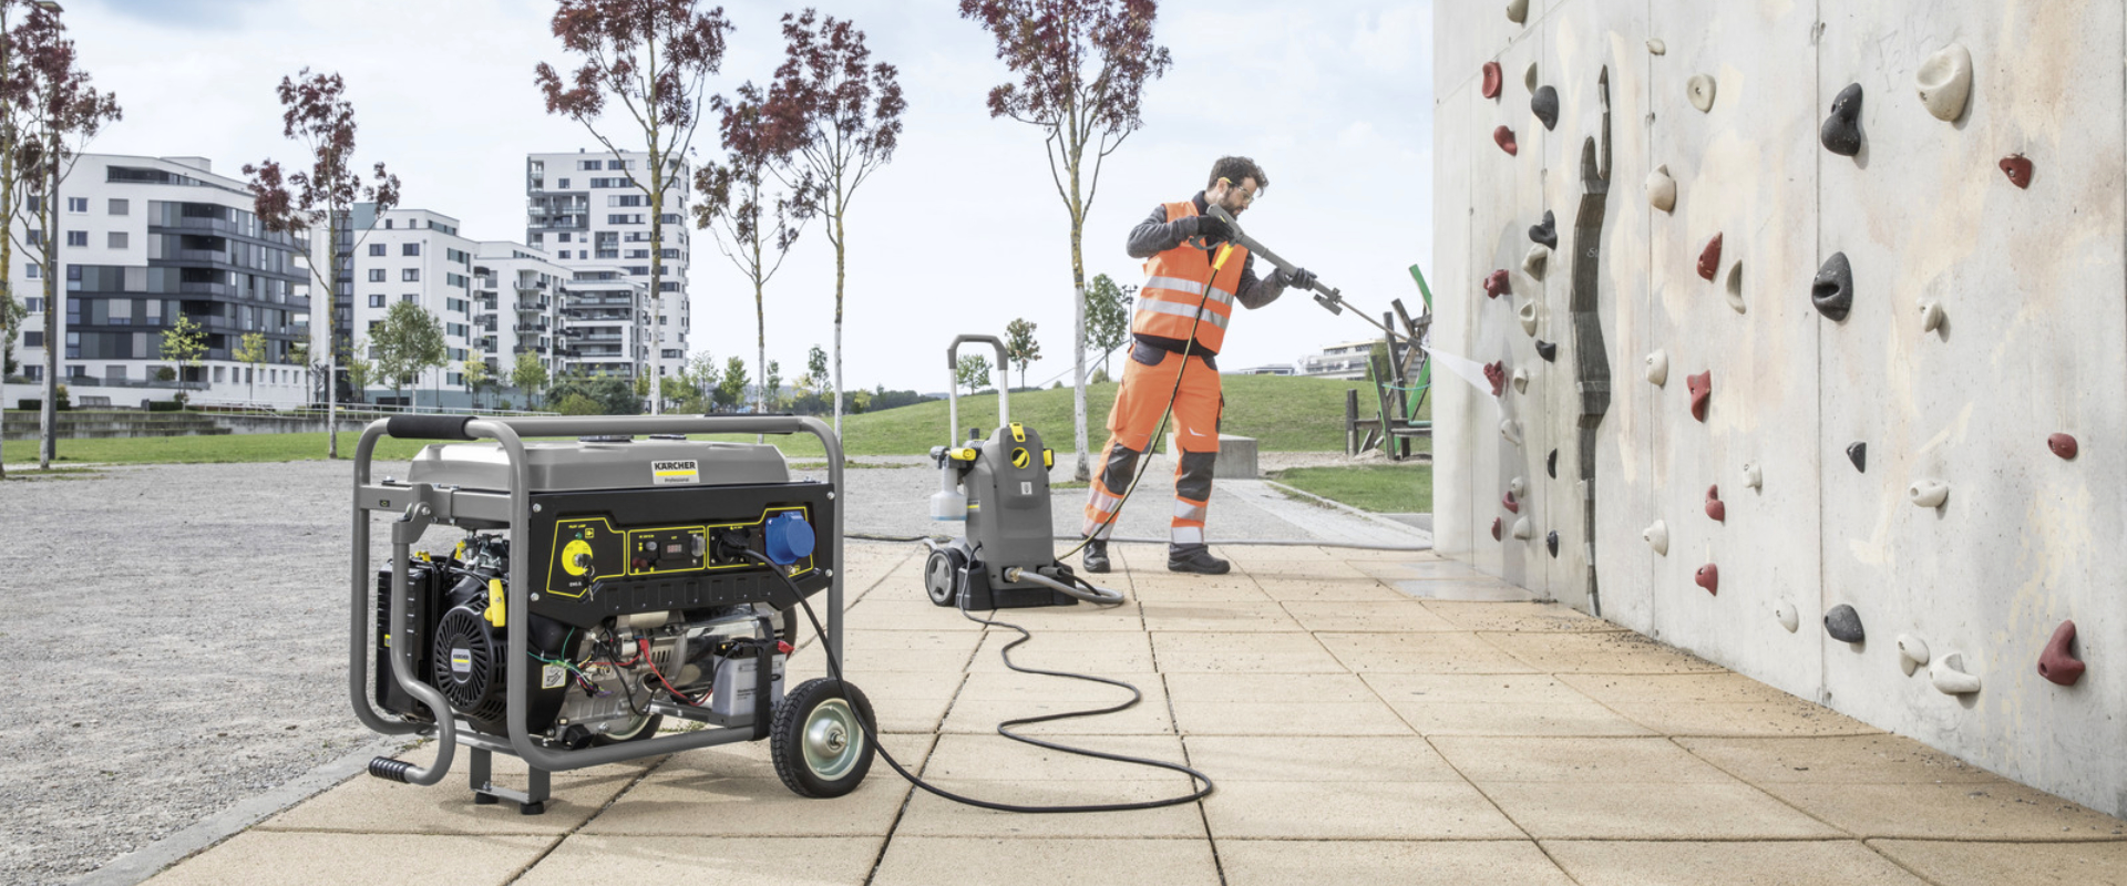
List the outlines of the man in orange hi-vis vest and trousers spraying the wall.
{"type": "Polygon", "coordinates": [[[1123,385],[1108,412],[1108,446],[1085,504],[1085,572],[1108,572],[1108,535],[1123,506],[1138,459],[1151,450],[1159,416],[1172,395],[1174,438],[1174,523],[1168,531],[1168,569],[1219,576],[1229,563],[1210,555],[1204,542],[1204,510],[1210,504],[1210,474],[1219,459],[1219,348],[1234,321],[1234,302],[1255,310],[1276,302],[1287,287],[1308,289],[1314,274],[1300,268],[1289,276],[1257,278],[1246,249],[1229,244],[1225,221],[1210,217],[1217,204],[1240,217],[1270,185],[1249,157],[1219,157],[1210,181],[1195,198],[1153,208],[1129,232],[1129,257],[1144,261],[1144,289],[1129,321],[1134,338],[1123,363],[1123,385]]]}

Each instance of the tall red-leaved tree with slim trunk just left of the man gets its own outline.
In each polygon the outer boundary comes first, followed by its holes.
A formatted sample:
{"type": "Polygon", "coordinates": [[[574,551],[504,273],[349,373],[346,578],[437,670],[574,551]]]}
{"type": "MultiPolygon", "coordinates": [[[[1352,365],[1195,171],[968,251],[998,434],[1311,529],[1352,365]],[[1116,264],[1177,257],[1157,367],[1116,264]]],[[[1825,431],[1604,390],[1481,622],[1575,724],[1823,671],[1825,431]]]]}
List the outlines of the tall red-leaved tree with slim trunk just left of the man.
{"type": "Polygon", "coordinates": [[[1144,83],[1172,66],[1153,42],[1157,0],[959,0],[964,19],[978,19],[998,40],[998,57],[1019,76],[989,91],[989,115],[1044,132],[1049,178],[1070,212],[1072,421],[1078,444],[1076,478],[1091,478],[1085,436],[1085,217],[1100,189],[1100,166],[1144,121],[1144,83]],[[1087,151],[1093,170],[1087,174],[1087,151]]]}

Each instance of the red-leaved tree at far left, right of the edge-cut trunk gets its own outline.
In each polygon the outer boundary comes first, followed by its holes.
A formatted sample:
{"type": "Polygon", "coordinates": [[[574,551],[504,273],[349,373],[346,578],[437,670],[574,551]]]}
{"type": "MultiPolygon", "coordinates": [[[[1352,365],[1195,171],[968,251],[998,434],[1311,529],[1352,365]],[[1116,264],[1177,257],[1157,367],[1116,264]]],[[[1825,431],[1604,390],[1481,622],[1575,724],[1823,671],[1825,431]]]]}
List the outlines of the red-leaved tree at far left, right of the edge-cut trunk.
{"type": "MultiPolygon", "coordinates": [[[[117,123],[123,113],[117,96],[96,91],[89,85],[89,72],[77,68],[74,40],[66,38],[66,25],[60,23],[60,4],[34,4],[23,25],[9,34],[9,55],[21,62],[4,72],[9,79],[19,76],[11,89],[21,89],[17,106],[21,125],[15,130],[13,153],[15,174],[34,183],[32,191],[43,195],[32,208],[36,236],[30,238],[26,251],[36,255],[45,270],[45,408],[36,467],[51,470],[51,459],[57,455],[60,348],[64,346],[55,336],[62,302],[57,278],[60,268],[64,268],[57,261],[60,210],[55,204],[60,187],[74,170],[74,161],[81,159],[81,149],[104,125],[117,123]]],[[[9,223],[9,236],[13,232],[15,225],[9,223]]]]}

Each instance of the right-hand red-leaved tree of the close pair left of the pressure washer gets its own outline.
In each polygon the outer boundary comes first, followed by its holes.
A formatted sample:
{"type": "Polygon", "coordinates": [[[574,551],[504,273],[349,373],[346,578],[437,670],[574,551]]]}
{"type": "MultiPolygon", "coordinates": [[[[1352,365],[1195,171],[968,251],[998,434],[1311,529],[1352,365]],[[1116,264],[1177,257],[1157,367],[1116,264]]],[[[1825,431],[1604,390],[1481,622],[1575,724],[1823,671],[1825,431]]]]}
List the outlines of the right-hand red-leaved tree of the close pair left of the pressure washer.
{"type": "Polygon", "coordinates": [[[893,159],[902,136],[900,72],[870,64],[864,32],[806,8],[783,15],[783,66],[768,91],[768,113],[789,134],[795,170],[810,176],[813,210],[834,244],[834,433],[842,433],[842,295],[849,268],[849,200],[893,159]]]}

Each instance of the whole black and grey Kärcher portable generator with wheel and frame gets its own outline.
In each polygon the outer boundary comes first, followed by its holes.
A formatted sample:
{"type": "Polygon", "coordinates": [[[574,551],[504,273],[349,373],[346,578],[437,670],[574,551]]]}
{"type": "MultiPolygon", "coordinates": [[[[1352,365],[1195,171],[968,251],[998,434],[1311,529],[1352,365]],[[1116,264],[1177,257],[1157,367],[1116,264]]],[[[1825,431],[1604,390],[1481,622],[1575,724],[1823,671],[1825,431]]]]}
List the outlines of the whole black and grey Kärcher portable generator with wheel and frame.
{"type": "Polygon", "coordinates": [[[793,793],[855,790],[876,733],[864,693],[783,684],[808,595],[827,591],[821,642],[842,657],[840,489],[842,448],[806,416],[372,423],[355,448],[349,688],[364,725],[438,750],[370,773],[436,784],[466,744],[476,803],[540,814],[553,771],[768,739],[793,793]],[[830,478],[791,480],[774,446],[687,433],[813,433],[830,478]],[[404,480],[372,480],[385,436],[440,442],[404,480]],[[396,516],[381,572],[376,512],[396,516]],[[415,552],[438,523],[464,538],[415,552]],[[659,737],[668,718],[704,729],[659,737]],[[525,761],[525,790],[493,784],[496,752],[525,761]]]}

